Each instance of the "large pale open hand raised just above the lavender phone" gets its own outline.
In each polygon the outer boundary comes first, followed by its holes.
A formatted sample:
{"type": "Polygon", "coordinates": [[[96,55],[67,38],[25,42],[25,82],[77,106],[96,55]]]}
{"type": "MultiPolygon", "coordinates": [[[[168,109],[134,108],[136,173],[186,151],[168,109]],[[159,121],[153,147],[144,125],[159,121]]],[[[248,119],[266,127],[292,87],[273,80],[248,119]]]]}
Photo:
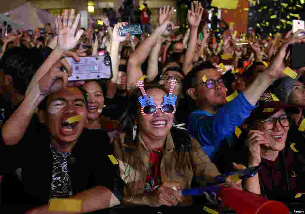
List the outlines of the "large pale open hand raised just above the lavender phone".
{"type": "Polygon", "coordinates": [[[81,38],[81,35],[84,33],[83,30],[79,30],[75,35],[75,31],[79,23],[80,17],[81,15],[77,14],[77,17],[73,23],[74,9],[71,10],[69,21],[67,10],[65,10],[64,16],[57,16],[55,22],[56,29],[58,29],[58,39],[56,47],[63,51],[68,51],[76,46],[78,40],[81,38]]]}

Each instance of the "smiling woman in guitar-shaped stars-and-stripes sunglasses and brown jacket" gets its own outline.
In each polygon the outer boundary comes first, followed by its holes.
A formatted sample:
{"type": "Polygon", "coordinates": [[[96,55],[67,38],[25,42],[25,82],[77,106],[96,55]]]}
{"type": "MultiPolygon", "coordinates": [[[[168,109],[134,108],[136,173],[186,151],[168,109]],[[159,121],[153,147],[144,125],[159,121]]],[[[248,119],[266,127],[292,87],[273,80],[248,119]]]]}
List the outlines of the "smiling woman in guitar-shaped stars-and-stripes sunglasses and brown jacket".
{"type": "MultiPolygon", "coordinates": [[[[191,187],[192,179],[204,186],[219,171],[203,152],[196,139],[172,127],[175,101],[162,86],[137,83],[123,114],[124,134],[114,142],[120,174],[127,184],[126,204],[177,205],[189,204],[190,197],[181,197],[177,190],[191,187]]],[[[230,180],[227,182],[238,187],[230,180]]],[[[240,185],[241,183],[239,183],[240,185]]],[[[241,188],[241,186],[239,186],[241,188]]]]}

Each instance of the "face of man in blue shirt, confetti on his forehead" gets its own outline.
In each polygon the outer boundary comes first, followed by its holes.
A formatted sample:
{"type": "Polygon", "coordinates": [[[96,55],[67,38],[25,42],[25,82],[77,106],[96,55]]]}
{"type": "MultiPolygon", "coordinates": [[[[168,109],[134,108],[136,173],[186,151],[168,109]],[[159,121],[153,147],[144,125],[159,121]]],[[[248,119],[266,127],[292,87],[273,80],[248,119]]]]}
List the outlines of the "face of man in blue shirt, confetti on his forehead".
{"type": "Polygon", "coordinates": [[[207,80],[218,80],[221,78],[217,70],[213,68],[200,71],[196,74],[196,85],[202,83],[195,87],[196,96],[199,103],[204,103],[205,106],[207,105],[212,108],[218,108],[226,104],[228,89],[224,86],[220,86],[217,82],[214,88],[208,88],[202,80],[204,75],[206,76],[207,80]]]}

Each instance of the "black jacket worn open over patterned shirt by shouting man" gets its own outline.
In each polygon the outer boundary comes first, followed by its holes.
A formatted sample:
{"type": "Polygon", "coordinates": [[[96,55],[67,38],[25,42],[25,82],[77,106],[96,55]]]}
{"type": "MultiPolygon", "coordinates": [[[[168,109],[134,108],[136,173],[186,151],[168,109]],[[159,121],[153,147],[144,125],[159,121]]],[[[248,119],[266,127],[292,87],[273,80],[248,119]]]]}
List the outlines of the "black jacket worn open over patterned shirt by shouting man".
{"type": "MultiPolygon", "coordinates": [[[[32,119],[22,140],[15,146],[2,147],[0,159],[1,173],[11,173],[22,169],[22,189],[3,193],[3,197],[12,206],[14,213],[48,203],[51,193],[53,156],[50,149],[51,136],[44,125],[39,125],[37,118],[32,119]]],[[[69,156],[68,169],[72,182],[73,194],[95,186],[108,188],[122,201],[124,198],[124,181],[120,178],[119,164],[113,164],[110,158],[113,148],[108,134],[103,130],[84,129],[69,156]],[[110,156],[110,157],[109,157],[110,156]],[[70,160],[73,157],[72,160],[70,160]]],[[[9,189],[9,188],[8,188],[9,189]]],[[[13,213],[13,212],[12,212],[13,213]]]]}

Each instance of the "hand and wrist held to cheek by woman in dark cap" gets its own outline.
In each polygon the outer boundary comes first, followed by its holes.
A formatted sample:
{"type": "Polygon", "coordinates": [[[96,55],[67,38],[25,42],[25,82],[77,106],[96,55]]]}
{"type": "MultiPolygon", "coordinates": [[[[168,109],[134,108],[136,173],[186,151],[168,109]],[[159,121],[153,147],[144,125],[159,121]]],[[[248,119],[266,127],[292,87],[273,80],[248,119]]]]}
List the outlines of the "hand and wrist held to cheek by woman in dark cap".
{"type": "Polygon", "coordinates": [[[246,142],[249,148],[249,166],[251,167],[256,167],[260,164],[260,145],[264,145],[266,147],[269,146],[266,138],[263,135],[264,132],[258,130],[250,130],[248,134],[246,142]]]}

